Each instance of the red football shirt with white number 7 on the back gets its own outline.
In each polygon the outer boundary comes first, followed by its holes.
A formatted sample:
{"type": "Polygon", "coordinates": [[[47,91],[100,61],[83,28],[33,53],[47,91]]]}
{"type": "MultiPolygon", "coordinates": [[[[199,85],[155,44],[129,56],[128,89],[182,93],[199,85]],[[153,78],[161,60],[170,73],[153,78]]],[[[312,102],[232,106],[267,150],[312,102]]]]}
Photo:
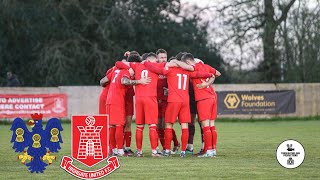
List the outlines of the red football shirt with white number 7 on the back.
{"type": "Polygon", "coordinates": [[[110,87],[107,96],[107,104],[124,105],[124,98],[127,87],[121,84],[123,77],[130,78],[128,70],[120,70],[115,68],[113,73],[110,73],[107,78],[110,80],[110,87]]]}

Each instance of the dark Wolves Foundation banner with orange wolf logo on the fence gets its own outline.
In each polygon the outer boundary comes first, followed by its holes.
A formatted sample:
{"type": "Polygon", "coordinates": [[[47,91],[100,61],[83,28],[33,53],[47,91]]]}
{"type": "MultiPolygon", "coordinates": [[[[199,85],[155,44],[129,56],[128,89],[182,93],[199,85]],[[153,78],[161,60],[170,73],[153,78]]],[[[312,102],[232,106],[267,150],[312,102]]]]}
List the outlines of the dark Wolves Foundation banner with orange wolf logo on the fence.
{"type": "Polygon", "coordinates": [[[295,92],[220,91],[219,114],[285,114],[296,111],[295,92]]]}

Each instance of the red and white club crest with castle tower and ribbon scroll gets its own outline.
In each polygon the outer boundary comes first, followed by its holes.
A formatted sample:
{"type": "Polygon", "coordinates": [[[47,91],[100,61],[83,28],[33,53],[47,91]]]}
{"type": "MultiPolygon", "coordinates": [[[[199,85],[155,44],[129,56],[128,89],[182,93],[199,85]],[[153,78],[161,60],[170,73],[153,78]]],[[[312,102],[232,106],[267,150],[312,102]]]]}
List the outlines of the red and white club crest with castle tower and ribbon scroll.
{"type": "Polygon", "coordinates": [[[117,157],[110,157],[109,152],[109,119],[107,115],[72,116],[71,157],[64,156],[60,167],[80,179],[99,179],[109,175],[120,167],[117,157]],[[73,159],[87,167],[100,162],[107,165],[99,170],[85,171],[72,164],[73,159]]]}

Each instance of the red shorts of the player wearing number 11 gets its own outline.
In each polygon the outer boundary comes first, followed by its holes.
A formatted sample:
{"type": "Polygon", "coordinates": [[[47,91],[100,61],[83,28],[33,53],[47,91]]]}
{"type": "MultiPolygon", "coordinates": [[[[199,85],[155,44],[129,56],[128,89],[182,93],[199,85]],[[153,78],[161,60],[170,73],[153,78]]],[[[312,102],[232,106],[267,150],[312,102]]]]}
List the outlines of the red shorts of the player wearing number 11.
{"type": "Polygon", "coordinates": [[[165,122],[174,124],[179,119],[179,123],[190,123],[190,107],[189,102],[168,102],[165,122]]]}

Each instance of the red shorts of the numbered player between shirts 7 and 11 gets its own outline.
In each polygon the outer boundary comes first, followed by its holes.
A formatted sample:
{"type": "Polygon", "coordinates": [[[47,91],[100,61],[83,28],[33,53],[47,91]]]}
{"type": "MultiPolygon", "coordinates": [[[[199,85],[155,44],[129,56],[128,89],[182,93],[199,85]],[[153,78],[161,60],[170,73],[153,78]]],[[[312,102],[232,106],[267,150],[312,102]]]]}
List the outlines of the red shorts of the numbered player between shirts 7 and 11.
{"type": "Polygon", "coordinates": [[[136,124],[158,124],[156,97],[136,97],[136,124]]]}

